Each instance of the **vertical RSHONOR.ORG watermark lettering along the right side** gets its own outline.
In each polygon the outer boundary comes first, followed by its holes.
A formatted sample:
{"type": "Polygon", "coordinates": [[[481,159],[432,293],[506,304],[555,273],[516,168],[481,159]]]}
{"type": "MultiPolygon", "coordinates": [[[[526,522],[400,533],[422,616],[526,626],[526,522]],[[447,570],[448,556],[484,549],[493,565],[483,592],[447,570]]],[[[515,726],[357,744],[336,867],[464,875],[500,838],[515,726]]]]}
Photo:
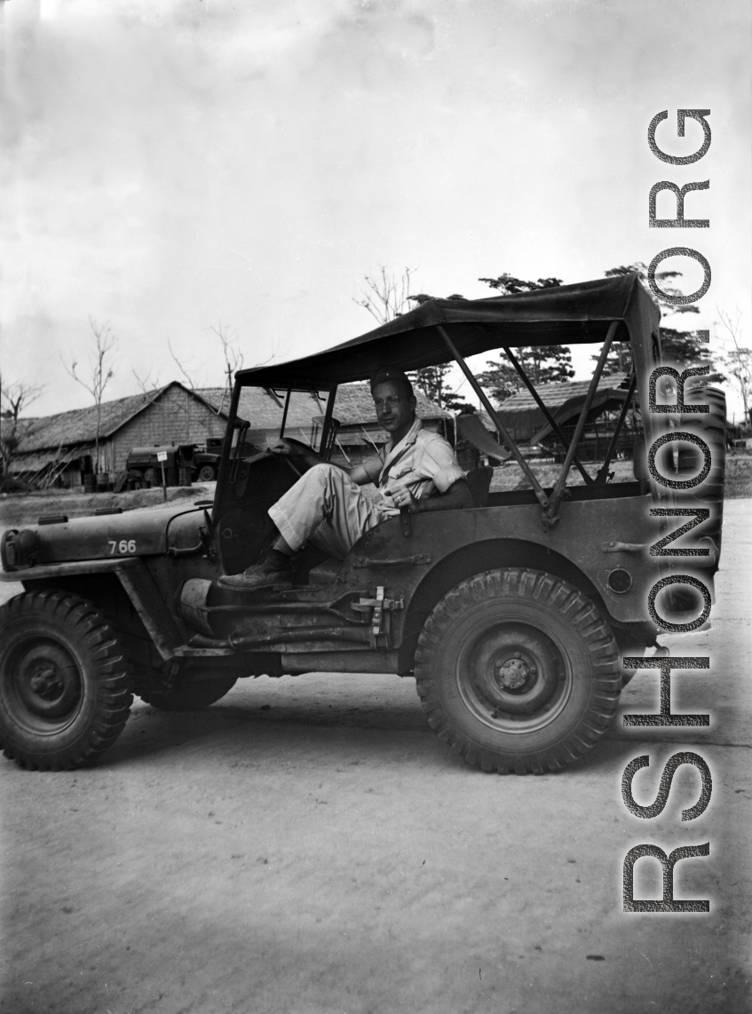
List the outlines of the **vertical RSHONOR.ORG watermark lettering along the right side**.
{"type": "MultiPolygon", "coordinates": [[[[656,141],[657,127],[662,121],[668,118],[668,111],[664,110],[662,113],[658,113],[653,118],[650,127],[648,128],[648,143],[651,151],[657,158],[660,158],[661,161],[669,162],[671,165],[691,165],[694,162],[698,162],[705,156],[708,148],[710,147],[710,127],[706,120],[706,117],[709,115],[709,110],[677,111],[678,136],[684,137],[686,120],[691,119],[697,121],[702,127],[703,139],[700,147],[693,153],[675,156],[666,154],[666,152],[659,147],[658,142],[656,141]]],[[[651,228],[708,228],[709,220],[706,218],[684,217],[684,200],[688,193],[692,191],[708,190],[709,186],[709,179],[687,183],[681,187],[667,179],[655,184],[651,188],[648,200],[651,228]],[[661,191],[669,191],[671,194],[675,195],[675,218],[657,217],[656,202],[661,191]]],[[[698,250],[691,249],[687,246],[670,246],[661,250],[660,254],[657,254],[651,262],[648,270],[648,281],[654,294],[660,296],[663,301],[673,304],[693,303],[696,300],[701,299],[710,287],[710,265],[698,250]],[[665,292],[659,287],[656,282],[656,271],[664,260],[671,257],[692,258],[695,261],[698,261],[702,266],[704,277],[702,285],[696,292],[693,292],[688,296],[677,296],[665,292]]],[[[709,333],[699,332],[698,337],[701,341],[706,342],[709,339],[709,333]]],[[[670,545],[675,542],[675,540],[681,535],[687,534],[693,528],[697,527],[697,525],[702,524],[702,522],[706,521],[710,516],[710,509],[708,507],[698,507],[696,494],[692,493],[696,487],[705,482],[712,468],[713,462],[710,447],[707,442],[696,433],[692,433],[689,429],[677,428],[686,425],[685,421],[682,419],[683,416],[687,414],[706,414],[710,411],[709,405],[706,402],[701,404],[694,399],[692,399],[691,404],[687,404],[685,402],[685,384],[687,380],[690,377],[707,374],[708,372],[709,366],[695,367],[681,371],[672,366],[658,366],[653,369],[650,374],[649,406],[644,406],[644,411],[647,408],[651,416],[661,416],[668,425],[666,432],[658,436],[648,450],[648,467],[654,482],[666,491],[671,491],[671,493],[667,493],[669,506],[653,508],[651,510],[651,515],[653,517],[675,517],[685,519],[683,524],[676,527],[673,531],[669,532],[651,546],[651,556],[658,559],[666,557],[674,559],[698,557],[707,558],[710,554],[718,552],[718,547],[712,544],[710,546],[706,545],[708,541],[707,539],[704,539],[705,545],[694,545],[686,548],[670,545]],[[663,388],[661,387],[661,384],[664,385],[663,388]],[[662,390],[663,392],[663,400],[661,403],[659,403],[657,387],[658,391],[662,390]],[[671,392],[670,395],[669,391],[671,392]],[[669,396],[667,397],[667,395],[669,396]],[[682,444],[685,448],[686,445],[690,445],[691,447],[699,450],[702,458],[702,464],[699,472],[693,478],[673,479],[666,476],[661,470],[660,452],[662,448],[667,448],[668,451],[678,455],[682,444]]],[[[666,451],[664,451],[664,454],[665,453],[666,451]]],[[[665,457],[663,460],[665,460],[665,457]]],[[[703,540],[699,539],[698,541],[701,542],[703,540]]],[[[683,563],[682,567],[686,570],[693,569],[689,560],[687,560],[686,563],[683,563]]],[[[683,633],[697,630],[708,620],[711,608],[711,596],[706,584],[702,580],[701,574],[701,570],[698,570],[698,572],[693,574],[672,572],[667,576],[660,577],[653,585],[648,595],[646,605],[651,618],[661,632],[683,633]],[[664,589],[672,589],[674,595],[676,595],[679,588],[683,589],[683,594],[685,596],[687,594],[691,595],[692,592],[688,589],[692,589],[695,593],[695,598],[701,599],[700,614],[688,623],[676,622],[675,615],[672,617],[672,619],[667,619],[662,615],[659,610],[659,596],[661,592],[664,589]]],[[[709,715],[675,715],[671,711],[672,672],[686,669],[709,669],[709,657],[669,657],[664,655],[650,658],[638,658],[625,656],[623,664],[627,669],[656,669],[660,673],[661,680],[661,706],[658,713],[652,715],[624,715],[623,724],[625,726],[631,728],[660,728],[662,730],[669,729],[673,731],[674,729],[686,728],[688,726],[697,727],[707,726],[710,724],[709,715]]],[[[686,750],[676,752],[670,756],[664,765],[655,802],[653,802],[650,806],[641,806],[635,801],[632,794],[632,780],[636,773],[643,768],[648,768],[650,763],[650,754],[644,754],[631,759],[624,769],[624,773],[621,778],[621,798],[624,806],[626,806],[631,814],[645,820],[651,820],[663,812],[668,801],[674,774],[681,765],[692,765],[695,767],[699,772],[701,780],[700,795],[697,802],[693,806],[682,810],[681,819],[682,821],[692,821],[700,816],[700,814],[704,813],[710,802],[710,796],[712,794],[712,779],[710,777],[710,770],[707,764],[699,753],[686,750]]],[[[710,901],[707,898],[691,898],[683,900],[674,899],[674,867],[676,864],[682,859],[708,856],[709,853],[709,842],[702,842],[699,844],[681,844],[669,853],[667,853],[660,846],[649,842],[636,845],[634,848],[629,849],[623,860],[622,871],[624,912],[709,912],[710,901]],[[663,870],[663,896],[660,900],[636,900],[634,898],[634,864],[643,857],[653,857],[661,864],[663,870]]]]}

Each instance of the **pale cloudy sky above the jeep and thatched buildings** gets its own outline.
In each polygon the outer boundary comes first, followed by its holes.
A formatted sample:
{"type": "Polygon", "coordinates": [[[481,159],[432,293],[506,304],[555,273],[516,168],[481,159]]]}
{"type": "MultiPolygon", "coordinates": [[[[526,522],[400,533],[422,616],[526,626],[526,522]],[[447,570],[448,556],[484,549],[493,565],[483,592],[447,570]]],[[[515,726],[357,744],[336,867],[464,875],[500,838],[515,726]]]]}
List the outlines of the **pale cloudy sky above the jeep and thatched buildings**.
{"type": "Polygon", "coordinates": [[[85,374],[90,320],[118,339],[105,397],[179,377],[168,341],[220,384],[220,327],[245,366],[346,341],[375,325],[357,300],[381,265],[479,298],[481,277],[577,282],[690,246],[712,270],[692,323],[717,353],[739,312],[752,344],[746,2],[3,6],[0,366],[44,385],[34,415],[91,403],[65,368],[85,374]],[[659,143],[696,150],[679,107],[710,110],[693,165],[648,146],[667,110],[659,143]],[[709,228],[649,227],[655,183],[705,179],[685,214],[709,228]]]}

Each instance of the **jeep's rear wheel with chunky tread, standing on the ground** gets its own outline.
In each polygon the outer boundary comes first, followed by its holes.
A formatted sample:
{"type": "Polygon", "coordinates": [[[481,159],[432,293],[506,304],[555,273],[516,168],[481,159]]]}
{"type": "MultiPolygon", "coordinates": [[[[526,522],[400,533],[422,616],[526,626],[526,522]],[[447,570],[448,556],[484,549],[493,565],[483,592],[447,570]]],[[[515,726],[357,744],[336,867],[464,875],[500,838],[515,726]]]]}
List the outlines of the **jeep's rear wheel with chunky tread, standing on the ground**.
{"type": "Polygon", "coordinates": [[[486,571],[453,588],[421,634],[416,680],[432,728],[484,771],[542,774],[608,728],[621,689],[610,629],[540,571],[486,571]]]}

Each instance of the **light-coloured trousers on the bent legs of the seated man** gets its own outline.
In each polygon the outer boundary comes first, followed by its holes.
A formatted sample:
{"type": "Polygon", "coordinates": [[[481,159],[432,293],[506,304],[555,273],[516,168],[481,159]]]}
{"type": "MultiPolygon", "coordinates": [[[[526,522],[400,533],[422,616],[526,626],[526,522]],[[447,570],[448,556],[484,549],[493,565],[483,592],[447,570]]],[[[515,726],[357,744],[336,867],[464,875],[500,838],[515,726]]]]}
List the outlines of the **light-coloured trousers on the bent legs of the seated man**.
{"type": "Polygon", "coordinates": [[[295,553],[308,541],[344,560],[361,535],[387,515],[333,464],[309,468],[269,510],[295,553]]]}

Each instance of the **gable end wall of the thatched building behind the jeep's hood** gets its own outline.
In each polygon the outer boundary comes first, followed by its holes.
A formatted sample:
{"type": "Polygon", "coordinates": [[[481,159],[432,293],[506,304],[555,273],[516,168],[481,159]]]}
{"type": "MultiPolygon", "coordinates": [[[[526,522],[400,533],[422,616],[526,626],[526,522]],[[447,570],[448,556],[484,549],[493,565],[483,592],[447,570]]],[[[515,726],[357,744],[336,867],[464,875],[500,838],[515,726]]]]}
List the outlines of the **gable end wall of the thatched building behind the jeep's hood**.
{"type": "Polygon", "coordinates": [[[106,442],[105,469],[122,472],[134,447],[203,443],[207,437],[224,436],[226,423],[189,391],[170,388],[106,442]]]}

